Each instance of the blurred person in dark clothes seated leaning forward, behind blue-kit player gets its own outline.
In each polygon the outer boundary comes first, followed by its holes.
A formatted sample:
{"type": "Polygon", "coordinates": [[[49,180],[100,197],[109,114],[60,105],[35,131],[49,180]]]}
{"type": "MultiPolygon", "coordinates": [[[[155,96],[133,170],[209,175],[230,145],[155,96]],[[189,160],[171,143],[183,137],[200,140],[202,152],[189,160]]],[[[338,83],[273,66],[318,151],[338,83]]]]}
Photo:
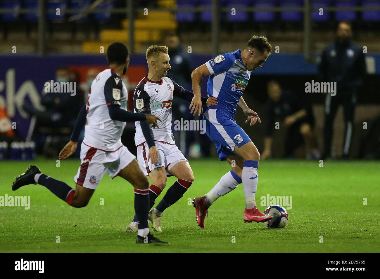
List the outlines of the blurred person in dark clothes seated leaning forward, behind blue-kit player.
{"type": "Polygon", "coordinates": [[[268,82],[267,88],[269,100],[266,105],[266,137],[261,159],[272,156],[272,138],[276,118],[283,120],[283,125],[287,127],[285,157],[293,157],[294,149],[303,141],[306,158],[318,159],[320,154],[315,144],[314,117],[310,104],[299,98],[293,91],[282,90],[275,80],[268,82]]]}

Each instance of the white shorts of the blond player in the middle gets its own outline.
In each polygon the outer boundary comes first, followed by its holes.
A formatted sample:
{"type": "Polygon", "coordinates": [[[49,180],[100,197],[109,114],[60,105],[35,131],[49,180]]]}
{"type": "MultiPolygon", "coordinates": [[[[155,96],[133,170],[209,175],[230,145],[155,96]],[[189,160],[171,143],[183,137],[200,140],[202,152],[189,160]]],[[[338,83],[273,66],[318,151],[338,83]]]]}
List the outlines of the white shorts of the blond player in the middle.
{"type": "Polygon", "coordinates": [[[180,161],[188,162],[184,154],[179,151],[177,145],[169,144],[165,142],[154,142],[158,151],[158,160],[156,164],[152,164],[149,159],[149,162],[146,166],[146,161],[149,156],[149,147],[146,142],[137,147],[137,161],[139,162],[140,169],[142,172],[148,176],[153,169],[158,167],[165,167],[166,175],[171,175],[169,173],[171,167],[177,164],[180,161]]]}

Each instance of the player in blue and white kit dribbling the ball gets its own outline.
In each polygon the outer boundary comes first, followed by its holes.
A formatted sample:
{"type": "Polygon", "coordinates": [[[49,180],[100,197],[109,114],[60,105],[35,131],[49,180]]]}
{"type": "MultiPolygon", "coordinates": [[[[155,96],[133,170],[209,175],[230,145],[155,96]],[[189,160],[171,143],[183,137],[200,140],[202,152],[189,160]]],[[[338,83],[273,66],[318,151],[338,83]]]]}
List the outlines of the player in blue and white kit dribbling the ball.
{"type": "Polygon", "coordinates": [[[259,123],[257,113],[245,103],[242,95],[247,86],[251,71],[261,68],[271,54],[272,46],[263,36],[253,36],[247,47],[241,51],[220,54],[196,68],[192,73],[194,98],[190,104],[191,113],[203,113],[201,102],[202,78],[210,76],[207,82],[207,94],[218,99],[217,106],[211,106],[204,112],[206,134],[215,143],[219,159],[228,161],[231,171],[202,197],[193,200],[199,227],[204,229],[204,218],[208,209],[219,197],[231,192],[243,183],[245,197],[244,222],[265,222],[272,219],[261,213],[255,202],[258,181],[260,153],[243,129],[236,124],[235,113],[239,105],[247,115],[245,123],[250,126],[259,123]]]}

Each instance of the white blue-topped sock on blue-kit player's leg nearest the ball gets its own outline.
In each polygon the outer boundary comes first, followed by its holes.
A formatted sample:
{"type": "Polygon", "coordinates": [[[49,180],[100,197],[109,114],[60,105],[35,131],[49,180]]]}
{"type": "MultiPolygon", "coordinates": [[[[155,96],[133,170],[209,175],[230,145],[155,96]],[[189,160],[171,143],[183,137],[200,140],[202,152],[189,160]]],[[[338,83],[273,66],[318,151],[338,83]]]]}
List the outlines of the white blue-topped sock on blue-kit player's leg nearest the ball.
{"type": "Polygon", "coordinates": [[[245,208],[251,209],[256,206],[255,195],[257,190],[258,161],[246,160],[244,162],[241,180],[243,181],[245,208]]]}

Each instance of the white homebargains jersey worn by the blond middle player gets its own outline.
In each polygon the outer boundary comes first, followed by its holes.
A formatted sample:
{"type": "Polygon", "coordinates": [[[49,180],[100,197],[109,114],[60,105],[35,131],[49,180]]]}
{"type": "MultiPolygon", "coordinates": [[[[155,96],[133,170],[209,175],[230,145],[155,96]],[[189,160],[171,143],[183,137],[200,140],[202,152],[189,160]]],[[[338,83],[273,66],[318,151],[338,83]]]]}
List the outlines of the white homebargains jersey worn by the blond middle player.
{"type": "MultiPolygon", "coordinates": [[[[155,141],[176,144],[171,131],[171,109],[173,95],[182,92],[183,88],[177,85],[170,77],[163,77],[159,82],[144,79],[139,82],[133,96],[133,106],[137,113],[152,113],[162,121],[157,121],[160,128],[152,128],[155,141]]],[[[152,125],[151,125],[152,126],[152,125]]],[[[140,121],[136,121],[135,144],[145,142],[140,121]]]]}

